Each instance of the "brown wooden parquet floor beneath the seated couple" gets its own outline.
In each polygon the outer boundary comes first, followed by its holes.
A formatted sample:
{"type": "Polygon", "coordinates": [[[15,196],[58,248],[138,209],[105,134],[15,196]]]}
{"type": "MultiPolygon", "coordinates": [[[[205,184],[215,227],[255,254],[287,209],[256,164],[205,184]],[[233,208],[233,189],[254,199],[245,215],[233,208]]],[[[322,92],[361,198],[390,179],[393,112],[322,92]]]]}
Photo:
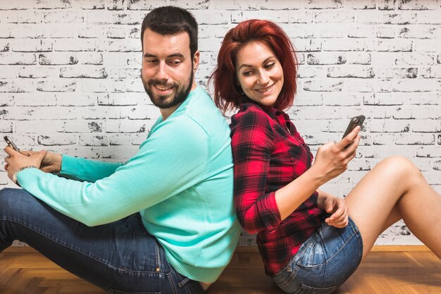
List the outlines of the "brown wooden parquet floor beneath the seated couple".
{"type": "MultiPolygon", "coordinates": [[[[0,253],[1,294],[104,294],[32,248],[0,253]]],[[[254,247],[240,247],[207,294],[281,294],[254,247]]],[[[335,294],[441,294],[441,260],[426,247],[378,246],[335,294]]]]}

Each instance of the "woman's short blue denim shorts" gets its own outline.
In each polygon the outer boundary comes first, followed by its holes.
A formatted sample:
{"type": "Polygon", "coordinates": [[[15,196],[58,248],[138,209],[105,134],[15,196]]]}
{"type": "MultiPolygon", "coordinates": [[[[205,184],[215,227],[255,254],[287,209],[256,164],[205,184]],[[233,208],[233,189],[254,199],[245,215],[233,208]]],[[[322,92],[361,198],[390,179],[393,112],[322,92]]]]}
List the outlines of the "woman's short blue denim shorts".
{"type": "Polygon", "coordinates": [[[352,219],[345,228],[323,223],[273,280],[285,293],[332,293],[354,273],[362,256],[363,240],[352,219]]]}

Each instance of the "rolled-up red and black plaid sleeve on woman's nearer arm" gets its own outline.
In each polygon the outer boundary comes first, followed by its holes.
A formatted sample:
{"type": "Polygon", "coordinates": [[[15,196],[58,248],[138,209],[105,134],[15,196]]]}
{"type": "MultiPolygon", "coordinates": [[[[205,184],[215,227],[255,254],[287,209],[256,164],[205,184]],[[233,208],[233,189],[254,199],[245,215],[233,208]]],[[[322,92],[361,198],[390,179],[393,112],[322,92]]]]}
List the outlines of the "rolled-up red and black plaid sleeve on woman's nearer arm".
{"type": "Polygon", "coordinates": [[[249,233],[275,231],[281,219],[275,192],[266,191],[274,137],[268,116],[253,108],[236,114],[231,136],[237,219],[249,233]]]}

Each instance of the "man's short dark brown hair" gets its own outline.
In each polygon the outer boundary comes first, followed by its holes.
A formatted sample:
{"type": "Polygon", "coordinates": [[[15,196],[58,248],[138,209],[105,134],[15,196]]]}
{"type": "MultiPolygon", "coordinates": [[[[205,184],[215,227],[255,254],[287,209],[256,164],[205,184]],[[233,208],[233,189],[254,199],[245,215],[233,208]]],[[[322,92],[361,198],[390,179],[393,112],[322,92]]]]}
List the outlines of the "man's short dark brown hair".
{"type": "Polygon", "coordinates": [[[197,22],[189,11],[175,6],[155,8],[145,16],[141,27],[141,44],[144,31],[150,29],[161,35],[174,35],[178,32],[187,32],[190,37],[190,52],[192,57],[197,51],[197,22]]]}

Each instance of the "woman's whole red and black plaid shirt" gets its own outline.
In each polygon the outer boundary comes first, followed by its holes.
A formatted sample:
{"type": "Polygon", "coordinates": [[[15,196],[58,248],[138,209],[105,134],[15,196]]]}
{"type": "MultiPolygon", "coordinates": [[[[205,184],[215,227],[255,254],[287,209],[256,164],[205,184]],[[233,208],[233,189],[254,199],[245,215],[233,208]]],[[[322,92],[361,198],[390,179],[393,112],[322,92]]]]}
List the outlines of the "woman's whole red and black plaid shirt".
{"type": "Polygon", "coordinates": [[[314,192],[287,219],[280,220],[275,191],[311,167],[309,147],[283,111],[247,100],[231,118],[237,218],[257,233],[266,274],[287,266],[300,245],[321,226],[325,212],[314,192]]]}

